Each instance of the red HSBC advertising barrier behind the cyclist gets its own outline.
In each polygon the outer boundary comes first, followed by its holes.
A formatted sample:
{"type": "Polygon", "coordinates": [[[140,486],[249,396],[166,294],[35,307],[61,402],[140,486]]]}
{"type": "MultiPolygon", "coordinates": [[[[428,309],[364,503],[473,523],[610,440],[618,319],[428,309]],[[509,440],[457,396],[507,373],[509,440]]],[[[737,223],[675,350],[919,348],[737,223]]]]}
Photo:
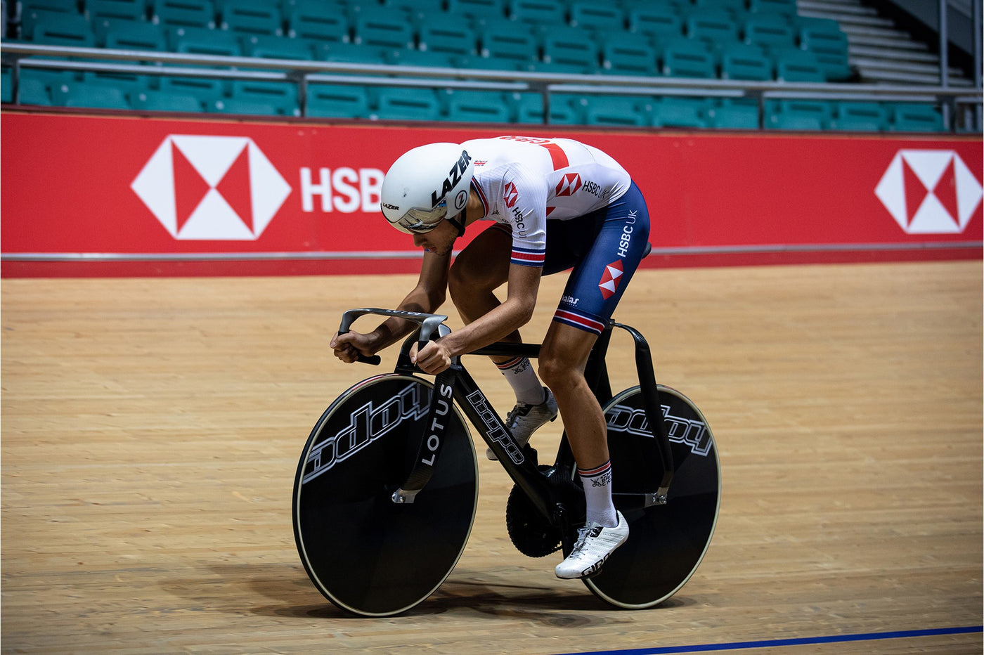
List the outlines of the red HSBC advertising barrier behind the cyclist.
{"type": "MultiPolygon", "coordinates": [[[[629,170],[647,266],[981,256],[979,137],[522,129],[629,170]]],[[[505,134],[18,112],[0,133],[4,276],[414,270],[379,212],[389,165],[505,134]]]]}

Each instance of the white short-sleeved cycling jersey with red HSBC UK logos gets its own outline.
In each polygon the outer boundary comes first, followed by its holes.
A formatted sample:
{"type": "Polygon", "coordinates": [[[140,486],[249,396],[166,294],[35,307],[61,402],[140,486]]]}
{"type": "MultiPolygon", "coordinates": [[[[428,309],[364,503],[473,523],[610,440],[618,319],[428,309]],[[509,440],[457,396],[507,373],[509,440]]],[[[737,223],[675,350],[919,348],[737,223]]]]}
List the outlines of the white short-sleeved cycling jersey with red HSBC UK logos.
{"type": "Polygon", "coordinates": [[[513,264],[542,267],[548,219],[608,207],[632,184],[615,159],[572,139],[498,137],[462,147],[474,162],[482,219],[513,228],[513,264]]]}

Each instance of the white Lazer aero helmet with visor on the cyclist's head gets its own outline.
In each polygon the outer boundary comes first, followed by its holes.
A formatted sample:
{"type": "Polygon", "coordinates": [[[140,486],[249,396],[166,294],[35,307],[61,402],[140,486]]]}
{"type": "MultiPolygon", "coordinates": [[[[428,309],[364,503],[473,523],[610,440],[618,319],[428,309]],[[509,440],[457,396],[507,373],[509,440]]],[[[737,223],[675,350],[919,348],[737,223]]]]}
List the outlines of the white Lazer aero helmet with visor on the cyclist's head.
{"type": "Polygon", "coordinates": [[[458,144],[407,150],[383,179],[383,215],[400,232],[429,232],[467,205],[473,171],[471,156],[458,144]]]}

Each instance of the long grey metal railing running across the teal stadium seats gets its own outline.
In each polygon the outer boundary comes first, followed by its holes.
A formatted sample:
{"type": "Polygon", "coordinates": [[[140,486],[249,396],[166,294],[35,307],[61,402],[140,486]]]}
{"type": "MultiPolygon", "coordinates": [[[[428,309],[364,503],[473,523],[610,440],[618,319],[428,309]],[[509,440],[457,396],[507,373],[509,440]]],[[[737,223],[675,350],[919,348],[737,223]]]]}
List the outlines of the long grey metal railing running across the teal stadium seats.
{"type": "Polygon", "coordinates": [[[759,102],[760,127],[764,127],[765,105],[769,99],[812,98],[845,101],[927,102],[942,108],[946,129],[955,130],[957,121],[954,118],[959,116],[963,119],[963,124],[960,126],[962,130],[968,132],[981,131],[979,116],[982,105],[982,89],[979,86],[977,88],[954,88],[952,86],[750,82],[618,75],[572,75],[354,62],[203,56],[175,52],[111,50],[20,42],[2,43],[0,63],[13,69],[12,84],[15,104],[20,102],[21,70],[36,68],[289,83],[297,87],[298,109],[301,116],[307,115],[308,85],[337,84],[537,92],[543,97],[545,123],[549,122],[550,96],[553,93],[754,98],[759,102]],[[51,57],[60,59],[51,59],[51,57]],[[960,112],[961,109],[968,109],[969,111],[960,112]]]}

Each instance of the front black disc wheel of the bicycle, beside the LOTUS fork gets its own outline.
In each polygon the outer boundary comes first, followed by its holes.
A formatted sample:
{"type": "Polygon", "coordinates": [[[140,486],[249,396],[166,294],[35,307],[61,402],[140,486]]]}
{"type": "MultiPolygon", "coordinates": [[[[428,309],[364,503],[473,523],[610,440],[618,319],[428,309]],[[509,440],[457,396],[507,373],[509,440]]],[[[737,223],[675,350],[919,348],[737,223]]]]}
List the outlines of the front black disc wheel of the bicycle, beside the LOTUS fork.
{"type": "Polygon", "coordinates": [[[301,453],[297,552],[318,590],[354,614],[392,616],[425,600],[471,532],[477,464],[457,407],[430,481],[413,503],[392,500],[413,468],[432,390],[400,374],[365,380],[332,403],[301,453]]]}

